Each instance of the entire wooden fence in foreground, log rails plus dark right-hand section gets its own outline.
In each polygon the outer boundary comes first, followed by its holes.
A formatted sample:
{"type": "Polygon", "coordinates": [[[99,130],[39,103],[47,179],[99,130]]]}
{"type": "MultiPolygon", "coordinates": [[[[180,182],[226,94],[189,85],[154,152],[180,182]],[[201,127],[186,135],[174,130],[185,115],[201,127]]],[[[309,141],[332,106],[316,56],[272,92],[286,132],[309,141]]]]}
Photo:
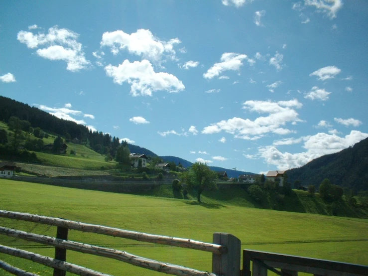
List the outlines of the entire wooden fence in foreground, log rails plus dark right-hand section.
{"type": "MultiPolygon", "coordinates": [[[[0,245],[0,253],[24,258],[52,267],[54,268],[54,276],[65,276],[66,272],[81,276],[109,276],[107,274],[65,262],[67,250],[111,258],[137,267],[177,276],[267,276],[268,271],[280,276],[297,276],[298,272],[309,273],[314,276],[368,276],[368,266],[254,250],[243,251],[243,270],[240,270],[241,241],[237,237],[226,233],[214,233],[213,243],[210,244],[191,239],[152,235],[101,225],[70,221],[62,218],[52,218],[3,210],[0,210],[0,217],[57,227],[56,238],[0,227],[0,234],[2,235],[54,246],[55,258],[53,259],[32,252],[0,245]],[[212,253],[212,273],[162,263],[135,256],[124,251],[69,241],[69,229],[210,252],[212,253]]],[[[36,276],[35,274],[25,272],[2,261],[0,261],[0,268],[18,276],[36,276]]]]}

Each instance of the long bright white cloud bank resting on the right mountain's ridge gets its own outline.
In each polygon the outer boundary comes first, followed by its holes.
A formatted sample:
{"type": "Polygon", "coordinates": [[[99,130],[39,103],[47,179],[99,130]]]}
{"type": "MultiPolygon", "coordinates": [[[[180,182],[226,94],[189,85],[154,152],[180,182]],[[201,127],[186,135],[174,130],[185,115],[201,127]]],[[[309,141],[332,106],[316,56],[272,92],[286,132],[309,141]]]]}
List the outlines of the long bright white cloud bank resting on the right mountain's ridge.
{"type": "Polygon", "coordinates": [[[305,138],[304,152],[281,152],[275,146],[265,146],[258,149],[260,157],[264,158],[268,165],[276,165],[278,169],[290,169],[305,165],[307,162],[325,154],[338,152],[368,137],[368,134],[352,131],[345,137],[318,133],[305,138]]]}

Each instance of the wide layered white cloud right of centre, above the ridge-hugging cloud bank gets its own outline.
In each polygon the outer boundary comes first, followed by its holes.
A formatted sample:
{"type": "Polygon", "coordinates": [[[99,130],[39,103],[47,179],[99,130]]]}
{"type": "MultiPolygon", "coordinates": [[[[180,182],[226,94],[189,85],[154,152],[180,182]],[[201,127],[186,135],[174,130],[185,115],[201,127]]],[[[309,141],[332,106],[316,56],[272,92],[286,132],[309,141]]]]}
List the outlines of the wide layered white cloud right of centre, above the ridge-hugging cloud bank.
{"type": "Polygon", "coordinates": [[[212,124],[203,129],[203,134],[214,134],[225,131],[233,134],[235,138],[246,140],[259,139],[267,133],[285,135],[294,133],[292,130],[282,128],[287,123],[302,122],[298,118],[298,113],[293,108],[301,108],[302,104],[298,100],[290,101],[246,101],[243,109],[250,112],[268,113],[268,116],[258,117],[254,121],[234,117],[212,124]]]}

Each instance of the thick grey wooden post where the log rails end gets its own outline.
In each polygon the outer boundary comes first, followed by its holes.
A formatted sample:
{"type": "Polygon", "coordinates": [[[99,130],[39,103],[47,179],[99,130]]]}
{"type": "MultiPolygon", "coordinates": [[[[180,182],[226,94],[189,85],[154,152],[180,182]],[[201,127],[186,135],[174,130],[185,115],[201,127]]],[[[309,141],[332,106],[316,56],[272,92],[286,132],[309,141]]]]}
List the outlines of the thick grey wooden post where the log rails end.
{"type": "Polygon", "coordinates": [[[227,253],[212,254],[212,273],[219,276],[240,276],[241,241],[227,233],[214,233],[213,243],[226,246],[227,253]]]}

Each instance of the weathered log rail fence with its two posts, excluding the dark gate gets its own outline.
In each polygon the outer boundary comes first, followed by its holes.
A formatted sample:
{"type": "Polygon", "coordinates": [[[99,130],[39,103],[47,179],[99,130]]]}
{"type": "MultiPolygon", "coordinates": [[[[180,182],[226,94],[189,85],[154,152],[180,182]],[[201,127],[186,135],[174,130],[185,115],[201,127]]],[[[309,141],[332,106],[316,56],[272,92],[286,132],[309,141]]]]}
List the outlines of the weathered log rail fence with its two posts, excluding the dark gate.
{"type": "MultiPolygon", "coordinates": [[[[16,219],[28,222],[47,224],[57,227],[56,238],[44,235],[38,235],[0,227],[0,234],[13,238],[19,238],[31,242],[51,245],[55,247],[55,259],[40,256],[35,253],[24,250],[0,246],[0,252],[20,258],[32,260],[45,266],[54,268],[54,276],[65,276],[65,272],[70,272],[83,276],[107,276],[106,274],[95,272],[87,268],[79,267],[70,263],[66,263],[66,250],[102,256],[119,260],[132,264],[141,268],[154,270],[166,274],[177,276],[240,276],[240,253],[241,241],[231,234],[214,233],[213,244],[194,241],[191,239],[182,239],[175,237],[167,237],[160,235],[152,235],[141,232],[128,231],[118,228],[106,227],[101,225],[93,225],[76,221],[65,220],[61,218],[52,218],[27,213],[10,212],[0,210],[0,217],[16,219]],[[68,229],[79,230],[83,232],[97,233],[120,237],[141,242],[164,244],[169,246],[183,247],[188,249],[196,249],[212,253],[212,273],[202,272],[182,266],[167,264],[150,260],[110,248],[98,247],[88,244],[82,244],[68,240],[68,229]]],[[[0,264],[1,265],[1,264],[0,264]]],[[[10,265],[0,266],[9,273],[21,276],[30,276],[27,272],[20,272],[19,269],[10,265]],[[18,271],[18,272],[16,272],[18,271]],[[16,272],[16,273],[14,273],[16,272]]]]}

